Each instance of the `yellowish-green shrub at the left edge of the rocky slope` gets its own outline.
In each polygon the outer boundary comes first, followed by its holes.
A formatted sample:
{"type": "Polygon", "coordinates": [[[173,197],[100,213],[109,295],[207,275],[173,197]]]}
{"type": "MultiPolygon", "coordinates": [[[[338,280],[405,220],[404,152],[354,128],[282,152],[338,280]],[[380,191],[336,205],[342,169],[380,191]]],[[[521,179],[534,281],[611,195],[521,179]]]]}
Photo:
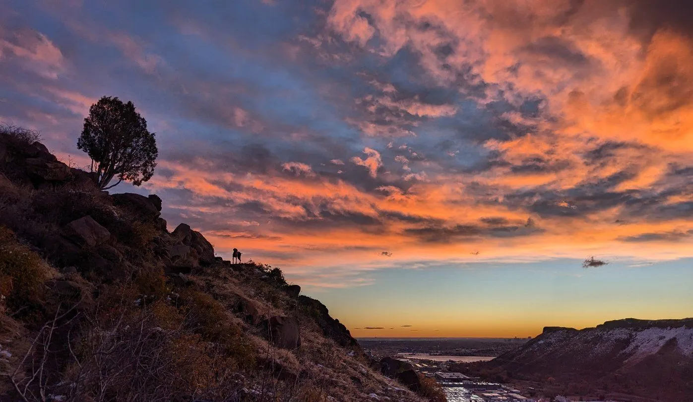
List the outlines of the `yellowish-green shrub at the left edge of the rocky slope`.
{"type": "Polygon", "coordinates": [[[41,257],[17,242],[14,234],[0,227],[0,294],[16,309],[39,303],[51,270],[41,257]]]}

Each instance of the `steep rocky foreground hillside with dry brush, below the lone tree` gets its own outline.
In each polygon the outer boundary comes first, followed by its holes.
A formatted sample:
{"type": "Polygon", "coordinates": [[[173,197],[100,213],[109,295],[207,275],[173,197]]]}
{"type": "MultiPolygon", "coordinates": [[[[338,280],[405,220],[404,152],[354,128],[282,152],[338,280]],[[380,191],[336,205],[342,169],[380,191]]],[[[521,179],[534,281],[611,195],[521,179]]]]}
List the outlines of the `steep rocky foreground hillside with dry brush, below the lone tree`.
{"type": "Polygon", "coordinates": [[[281,270],[169,232],[156,195],[99,191],[30,134],[0,133],[0,401],[425,400],[281,270]]]}

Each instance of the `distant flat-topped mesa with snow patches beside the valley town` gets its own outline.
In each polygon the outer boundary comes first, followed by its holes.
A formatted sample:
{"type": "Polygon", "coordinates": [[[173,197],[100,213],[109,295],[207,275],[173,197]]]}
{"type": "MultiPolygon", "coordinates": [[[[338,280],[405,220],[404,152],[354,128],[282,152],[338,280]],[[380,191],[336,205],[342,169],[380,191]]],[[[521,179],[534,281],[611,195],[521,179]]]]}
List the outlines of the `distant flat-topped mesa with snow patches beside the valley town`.
{"type": "MultiPolygon", "coordinates": [[[[693,401],[693,319],[617,320],[582,330],[546,327],[486,369],[511,378],[659,401],[693,401]]],[[[561,390],[562,389],[562,390],[561,390]]]]}

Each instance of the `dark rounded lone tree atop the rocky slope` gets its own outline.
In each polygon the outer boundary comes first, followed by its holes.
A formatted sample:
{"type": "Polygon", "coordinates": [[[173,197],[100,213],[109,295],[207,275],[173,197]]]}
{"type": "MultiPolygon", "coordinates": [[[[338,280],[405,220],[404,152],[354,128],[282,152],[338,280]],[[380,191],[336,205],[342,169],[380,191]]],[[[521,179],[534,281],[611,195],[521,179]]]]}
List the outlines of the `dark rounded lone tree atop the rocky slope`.
{"type": "Polygon", "coordinates": [[[152,178],[157,166],[154,136],[131,101],[104,96],[89,108],[77,148],[91,157],[91,171],[100,189],[111,189],[123,180],[139,186],[152,178]],[[108,186],[114,177],[118,182],[108,186]]]}

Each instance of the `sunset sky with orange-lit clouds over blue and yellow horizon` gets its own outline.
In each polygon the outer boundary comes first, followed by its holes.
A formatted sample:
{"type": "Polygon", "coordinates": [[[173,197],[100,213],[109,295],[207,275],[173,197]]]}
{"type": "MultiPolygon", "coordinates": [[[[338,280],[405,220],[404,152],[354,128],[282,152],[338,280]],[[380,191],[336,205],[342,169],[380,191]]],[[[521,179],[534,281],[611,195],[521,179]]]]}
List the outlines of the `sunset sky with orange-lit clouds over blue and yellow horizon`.
{"type": "Polygon", "coordinates": [[[686,0],[0,3],[0,121],[73,166],[132,100],[156,193],[358,337],[693,316],[686,0]],[[591,256],[608,264],[583,268],[591,256]]]}

